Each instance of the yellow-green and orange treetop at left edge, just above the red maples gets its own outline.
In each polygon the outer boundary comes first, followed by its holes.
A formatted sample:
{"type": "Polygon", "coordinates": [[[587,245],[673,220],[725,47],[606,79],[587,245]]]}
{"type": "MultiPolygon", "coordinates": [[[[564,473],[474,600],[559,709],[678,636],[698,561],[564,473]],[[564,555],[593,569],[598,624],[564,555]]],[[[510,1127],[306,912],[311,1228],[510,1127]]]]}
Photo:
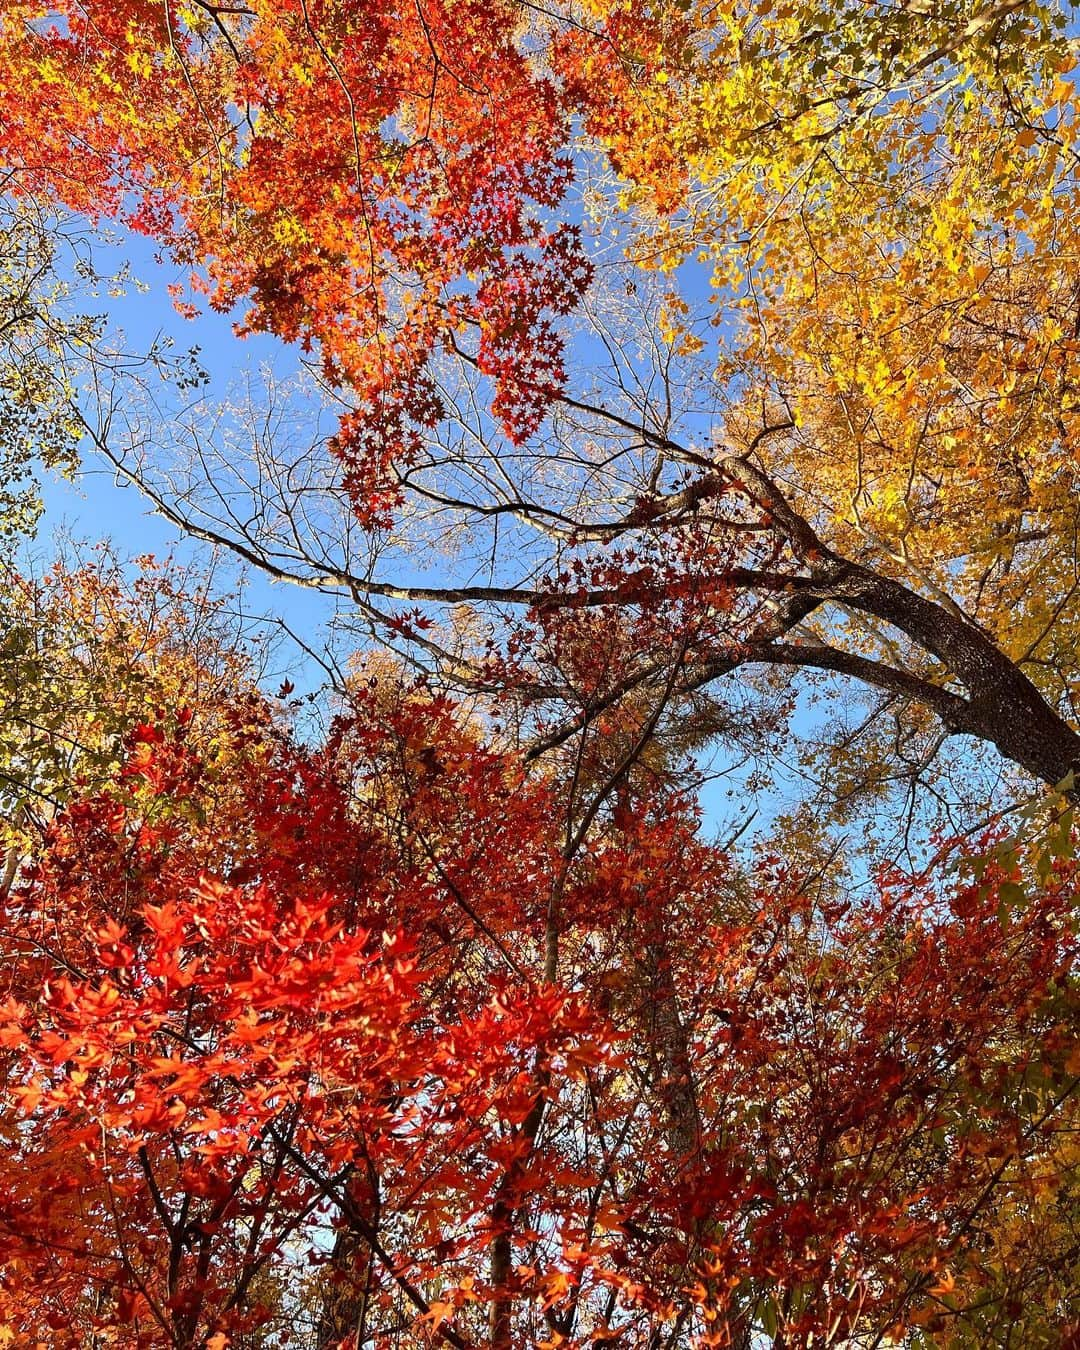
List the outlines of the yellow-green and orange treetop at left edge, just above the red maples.
{"type": "MultiPolygon", "coordinates": [[[[3,888],[72,794],[108,782],[135,726],[243,686],[236,621],[213,574],[142,559],[134,576],[100,548],[45,575],[11,571],[0,594],[3,888]],[[186,703],[182,703],[185,699],[186,703]]],[[[250,679],[248,691],[255,683],[250,679]]],[[[193,734],[189,728],[189,736],[193,734]]]]}

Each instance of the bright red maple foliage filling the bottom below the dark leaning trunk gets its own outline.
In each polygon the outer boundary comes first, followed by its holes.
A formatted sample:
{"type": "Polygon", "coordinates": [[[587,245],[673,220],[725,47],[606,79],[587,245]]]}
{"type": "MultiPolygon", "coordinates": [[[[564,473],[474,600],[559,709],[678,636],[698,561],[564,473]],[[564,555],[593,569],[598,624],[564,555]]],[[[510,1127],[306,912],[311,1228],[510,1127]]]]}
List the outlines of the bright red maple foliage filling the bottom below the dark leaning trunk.
{"type": "Polygon", "coordinates": [[[1041,882],[1000,855],[853,907],[778,859],[740,873],[668,794],[568,855],[551,788],[423,691],[359,698],[315,753],[258,701],[219,716],[211,755],[186,714],[138,725],[5,903],[16,1339],[964,1343],[1076,1316],[1057,845],[1041,882]],[[1034,1272],[1003,1196],[1061,1211],[1034,1272]]]}

